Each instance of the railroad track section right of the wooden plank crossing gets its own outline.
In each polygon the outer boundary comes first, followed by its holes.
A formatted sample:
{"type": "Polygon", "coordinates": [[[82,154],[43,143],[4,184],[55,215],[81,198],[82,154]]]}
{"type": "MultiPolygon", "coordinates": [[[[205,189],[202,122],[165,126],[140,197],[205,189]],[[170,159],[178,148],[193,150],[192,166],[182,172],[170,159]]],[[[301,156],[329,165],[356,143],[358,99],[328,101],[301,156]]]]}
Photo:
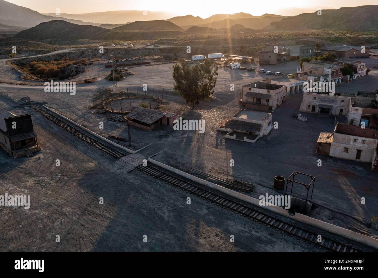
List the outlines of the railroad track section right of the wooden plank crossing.
{"type": "Polygon", "coordinates": [[[220,195],[214,194],[206,189],[203,189],[197,185],[194,185],[191,182],[181,180],[180,178],[175,177],[171,174],[168,174],[167,172],[163,172],[160,169],[155,168],[153,166],[139,165],[138,167],[136,167],[136,169],[148,175],[151,175],[154,178],[157,178],[166,183],[169,183],[170,185],[182,188],[186,191],[189,191],[200,197],[203,197],[204,199],[208,199],[214,203],[218,203],[219,205],[222,205],[223,207],[234,210],[245,217],[250,217],[251,219],[254,219],[256,221],[263,222],[273,228],[277,228],[281,231],[284,231],[288,233],[289,235],[293,235],[298,238],[304,239],[305,241],[311,242],[313,244],[320,245],[321,247],[324,247],[328,250],[335,251],[335,252],[358,252],[358,250],[356,250],[355,248],[352,248],[350,246],[337,242],[333,239],[326,238],[324,236],[322,236],[322,242],[318,242],[317,241],[318,234],[316,233],[296,227],[293,224],[289,224],[278,218],[261,213],[260,211],[253,210],[252,208],[245,207],[241,203],[237,203],[227,198],[224,198],[220,195]]]}

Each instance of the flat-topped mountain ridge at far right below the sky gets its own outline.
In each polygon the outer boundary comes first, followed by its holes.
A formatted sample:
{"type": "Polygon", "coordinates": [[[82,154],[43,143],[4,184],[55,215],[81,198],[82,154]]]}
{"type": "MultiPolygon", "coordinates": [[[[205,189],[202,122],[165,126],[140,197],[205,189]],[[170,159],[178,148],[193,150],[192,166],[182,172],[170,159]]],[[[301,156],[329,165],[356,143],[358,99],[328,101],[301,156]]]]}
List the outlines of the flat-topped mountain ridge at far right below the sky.
{"type": "Polygon", "coordinates": [[[271,22],[266,29],[327,28],[334,30],[376,31],[378,30],[378,5],[321,10],[309,14],[286,17],[271,22]]]}

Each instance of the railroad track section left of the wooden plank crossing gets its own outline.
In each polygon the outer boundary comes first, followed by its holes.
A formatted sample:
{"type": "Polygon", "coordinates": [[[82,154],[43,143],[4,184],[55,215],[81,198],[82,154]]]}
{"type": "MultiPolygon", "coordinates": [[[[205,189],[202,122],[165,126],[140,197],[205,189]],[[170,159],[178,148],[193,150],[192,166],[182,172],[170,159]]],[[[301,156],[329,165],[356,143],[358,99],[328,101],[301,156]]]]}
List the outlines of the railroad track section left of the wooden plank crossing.
{"type": "Polygon", "coordinates": [[[91,146],[98,148],[100,151],[104,152],[105,154],[110,155],[111,157],[114,157],[114,158],[121,158],[121,157],[125,156],[125,154],[122,154],[122,152],[119,152],[119,151],[105,145],[104,143],[101,143],[100,141],[82,133],[81,131],[79,131],[75,127],[71,126],[70,124],[65,123],[64,121],[60,120],[59,118],[57,118],[56,116],[54,116],[53,114],[48,112],[47,110],[40,107],[39,105],[31,106],[31,109],[42,114],[43,116],[48,118],[53,123],[57,124],[58,126],[62,127],[65,130],[67,130],[71,134],[75,135],[77,138],[85,141],[85,143],[88,143],[91,146]]]}

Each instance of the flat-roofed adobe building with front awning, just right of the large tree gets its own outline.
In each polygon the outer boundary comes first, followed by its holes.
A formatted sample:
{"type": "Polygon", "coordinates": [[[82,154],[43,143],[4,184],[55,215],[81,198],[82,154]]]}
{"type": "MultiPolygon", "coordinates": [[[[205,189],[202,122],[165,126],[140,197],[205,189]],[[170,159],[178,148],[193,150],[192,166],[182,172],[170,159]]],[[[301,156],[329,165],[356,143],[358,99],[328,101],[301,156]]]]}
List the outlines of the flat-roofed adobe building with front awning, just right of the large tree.
{"type": "Polygon", "coordinates": [[[287,87],[271,84],[271,79],[257,81],[242,87],[240,102],[243,107],[254,110],[275,110],[286,100],[287,87]]]}

